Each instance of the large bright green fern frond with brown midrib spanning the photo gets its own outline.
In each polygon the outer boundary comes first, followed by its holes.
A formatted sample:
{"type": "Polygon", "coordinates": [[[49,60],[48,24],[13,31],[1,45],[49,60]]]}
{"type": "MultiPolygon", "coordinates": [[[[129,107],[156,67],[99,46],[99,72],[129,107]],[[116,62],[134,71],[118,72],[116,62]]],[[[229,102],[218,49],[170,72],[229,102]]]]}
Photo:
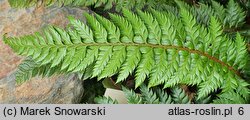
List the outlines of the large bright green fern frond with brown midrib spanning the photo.
{"type": "Polygon", "coordinates": [[[69,17],[66,30],[48,27],[42,33],[4,42],[39,66],[81,72],[86,78],[118,75],[117,83],[135,76],[135,87],[178,84],[198,86],[198,99],[220,91],[215,103],[247,103],[249,84],[240,77],[247,62],[243,38],[223,34],[216,17],[209,27],[186,9],[171,12],[123,9],[110,20],[85,13],[87,23],[69,17]],[[237,96],[237,97],[232,97],[237,96]]]}

